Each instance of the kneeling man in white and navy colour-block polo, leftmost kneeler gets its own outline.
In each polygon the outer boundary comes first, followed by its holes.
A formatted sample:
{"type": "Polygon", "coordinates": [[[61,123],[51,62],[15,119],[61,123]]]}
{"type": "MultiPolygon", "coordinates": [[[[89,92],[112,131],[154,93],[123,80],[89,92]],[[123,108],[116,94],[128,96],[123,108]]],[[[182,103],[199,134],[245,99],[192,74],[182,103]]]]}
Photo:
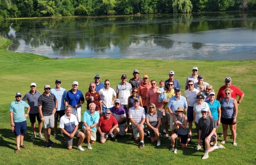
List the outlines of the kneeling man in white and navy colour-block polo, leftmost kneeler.
{"type": "Polygon", "coordinates": [[[84,142],[85,135],[83,132],[78,131],[78,120],[71,112],[72,106],[68,105],[66,107],[66,114],[59,120],[59,127],[61,128],[61,132],[63,132],[68,149],[72,149],[73,138],[76,137],[79,138],[76,149],[84,151],[81,145],[84,142]]]}

